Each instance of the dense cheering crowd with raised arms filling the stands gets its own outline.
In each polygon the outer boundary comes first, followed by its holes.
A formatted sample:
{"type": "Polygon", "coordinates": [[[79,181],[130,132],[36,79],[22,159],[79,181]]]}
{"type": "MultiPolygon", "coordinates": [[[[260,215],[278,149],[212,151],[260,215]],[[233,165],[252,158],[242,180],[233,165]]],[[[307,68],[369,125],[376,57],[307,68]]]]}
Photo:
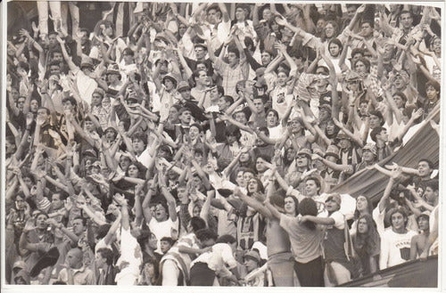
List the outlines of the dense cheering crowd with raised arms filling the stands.
{"type": "Polygon", "coordinates": [[[439,134],[439,9],[134,3],[118,33],[111,5],[8,32],[10,284],[324,287],[438,253],[434,159],[378,162],[439,134]],[[378,202],[331,192],[370,170],[378,202]]]}

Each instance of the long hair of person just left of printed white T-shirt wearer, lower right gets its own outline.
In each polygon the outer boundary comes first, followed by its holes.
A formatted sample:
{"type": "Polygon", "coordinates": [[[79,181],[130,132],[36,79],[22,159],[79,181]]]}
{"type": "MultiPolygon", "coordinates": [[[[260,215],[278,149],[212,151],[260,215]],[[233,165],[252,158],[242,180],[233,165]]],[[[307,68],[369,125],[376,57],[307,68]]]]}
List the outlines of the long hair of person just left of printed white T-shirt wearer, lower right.
{"type": "Polygon", "coordinates": [[[366,214],[359,216],[356,224],[356,235],[353,237],[353,248],[359,255],[370,254],[380,247],[380,237],[376,230],[376,224],[372,216],[366,214]],[[365,219],[368,225],[368,231],[366,233],[359,233],[358,224],[361,219],[365,219]]]}

